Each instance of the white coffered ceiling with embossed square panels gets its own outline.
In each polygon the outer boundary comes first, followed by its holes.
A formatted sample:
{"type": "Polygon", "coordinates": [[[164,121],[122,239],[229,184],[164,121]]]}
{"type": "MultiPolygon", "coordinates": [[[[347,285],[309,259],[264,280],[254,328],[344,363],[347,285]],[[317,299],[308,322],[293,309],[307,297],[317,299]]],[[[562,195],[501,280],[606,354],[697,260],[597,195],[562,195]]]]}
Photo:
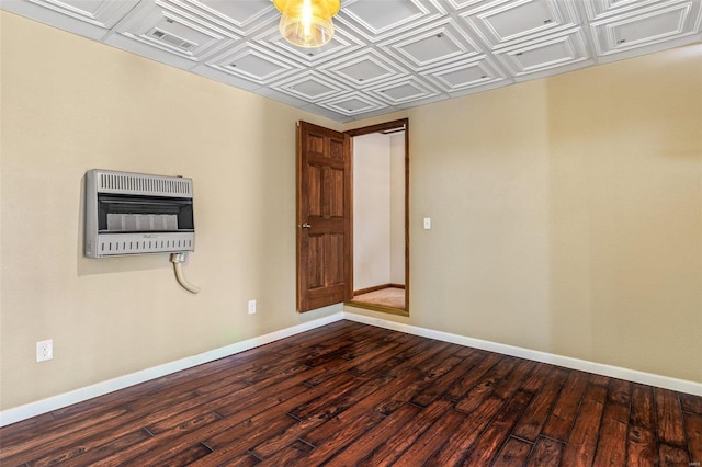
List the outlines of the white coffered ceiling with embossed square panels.
{"type": "Polygon", "coordinates": [[[702,0],[342,0],[314,49],[271,0],[0,4],[339,122],[702,41],[702,0]]]}

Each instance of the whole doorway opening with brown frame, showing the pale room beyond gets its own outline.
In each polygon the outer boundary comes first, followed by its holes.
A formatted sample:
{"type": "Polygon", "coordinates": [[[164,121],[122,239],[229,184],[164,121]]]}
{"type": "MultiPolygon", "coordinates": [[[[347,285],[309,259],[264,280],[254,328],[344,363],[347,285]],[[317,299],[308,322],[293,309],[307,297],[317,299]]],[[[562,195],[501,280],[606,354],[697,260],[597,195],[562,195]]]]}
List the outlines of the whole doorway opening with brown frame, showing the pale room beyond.
{"type": "Polygon", "coordinates": [[[409,125],[348,132],[353,178],[350,305],[409,316],[409,125]]]}

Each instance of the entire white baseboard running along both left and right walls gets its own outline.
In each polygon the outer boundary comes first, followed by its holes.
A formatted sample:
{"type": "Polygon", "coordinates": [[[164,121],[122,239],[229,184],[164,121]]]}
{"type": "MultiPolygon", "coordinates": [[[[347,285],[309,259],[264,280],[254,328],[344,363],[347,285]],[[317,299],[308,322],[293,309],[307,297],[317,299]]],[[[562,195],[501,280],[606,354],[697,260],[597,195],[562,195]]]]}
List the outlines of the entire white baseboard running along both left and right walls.
{"type": "Polygon", "coordinates": [[[61,394],[58,396],[49,397],[36,402],[31,402],[24,406],[3,410],[0,412],[0,426],[9,425],[11,423],[36,417],[42,413],[50,412],[52,410],[57,410],[73,403],[82,402],[84,400],[92,399],[98,396],[103,396],[118,389],[138,385],[150,379],[170,375],[182,369],[202,365],[203,363],[213,362],[225,356],[234,355],[236,353],[244,352],[259,345],[268,344],[280,339],[290,338],[292,335],[299,334],[301,332],[309,331],[312,329],[340,321],[342,319],[390,329],[394,331],[406,332],[408,334],[420,335],[423,338],[435,339],[439,341],[451,342],[458,345],[482,349],[489,352],[501,353],[505,355],[517,356],[520,358],[533,360],[535,362],[548,363],[566,368],[579,369],[582,372],[595,373],[613,378],[626,379],[634,383],[671,389],[675,391],[691,394],[694,396],[702,396],[702,384],[700,383],[676,379],[667,376],[638,372],[635,369],[621,368],[618,366],[571,358],[568,356],[554,355],[546,352],[539,352],[513,345],[483,341],[480,339],[473,339],[464,335],[452,334],[450,332],[418,328],[416,326],[404,324],[400,322],[386,321],[383,319],[356,315],[349,311],[339,311],[326,318],[320,318],[314,321],[293,326],[292,328],[286,328],[280,331],[271,332],[269,334],[248,339],[246,341],[215,349],[213,351],[205,352],[199,355],[155,366],[152,368],[132,373],[129,375],[120,376],[114,379],[98,383],[95,385],[76,389],[73,391],[61,394]]]}

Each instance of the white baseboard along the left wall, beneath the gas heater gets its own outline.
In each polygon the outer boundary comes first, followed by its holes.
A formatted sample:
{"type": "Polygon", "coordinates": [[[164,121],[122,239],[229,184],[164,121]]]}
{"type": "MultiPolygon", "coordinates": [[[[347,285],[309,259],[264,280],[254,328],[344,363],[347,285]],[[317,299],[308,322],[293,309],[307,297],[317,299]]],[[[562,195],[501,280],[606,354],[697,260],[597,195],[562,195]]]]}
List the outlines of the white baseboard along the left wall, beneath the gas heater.
{"type": "Polygon", "coordinates": [[[309,331],[320,326],[329,324],[331,322],[340,321],[343,319],[341,311],[331,316],[316,319],[314,321],[296,324],[291,328],[282,329],[280,331],[271,332],[269,334],[259,335],[257,338],[248,339],[246,341],[237,342],[231,345],[215,349],[199,355],[189,356],[178,360],[176,362],[166,363],[163,365],[155,366],[152,368],[146,368],[140,372],[132,373],[109,379],[106,381],[98,383],[95,385],[87,386],[84,388],[76,389],[70,392],[65,392],[58,396],[49,397],[36,402],[26,403],[24,406],[15,407],[12,409],[3,410],[0,412],[0,426],[9,425],[22,420],[26,420],[32,417],[39,415],[42,413],[50,412],[63,407],[67,407],[73,403],[82,402],[88,399],[92,399],[98,396],[113,392],[118,389],[124,389],[129,386],[138,385],[150,379],[159,378],[161,376],[170,375],[182,369],[188,369],[193,366],[202,365],[203,363],[214,362],[215,360],[223,358],[225,356],[234,355],[235,353],[244,352],[249,349],[257,348],[259,345],[268,344],[291,335],[299,334],[301,332],[309,331]]]}

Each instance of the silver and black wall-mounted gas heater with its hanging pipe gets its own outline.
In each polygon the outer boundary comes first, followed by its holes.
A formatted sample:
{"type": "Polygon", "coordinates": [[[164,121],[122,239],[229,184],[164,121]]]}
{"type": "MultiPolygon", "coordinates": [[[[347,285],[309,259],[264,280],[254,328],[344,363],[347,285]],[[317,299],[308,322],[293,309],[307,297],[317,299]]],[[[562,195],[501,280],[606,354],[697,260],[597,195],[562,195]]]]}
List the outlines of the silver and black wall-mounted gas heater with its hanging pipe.
{"type": "Polygon", "coordinates": [[[181,285],[181,262],[195,249],[193,181],[93,169],[86,173],[86,255],[172,253],[181,285]]]}

